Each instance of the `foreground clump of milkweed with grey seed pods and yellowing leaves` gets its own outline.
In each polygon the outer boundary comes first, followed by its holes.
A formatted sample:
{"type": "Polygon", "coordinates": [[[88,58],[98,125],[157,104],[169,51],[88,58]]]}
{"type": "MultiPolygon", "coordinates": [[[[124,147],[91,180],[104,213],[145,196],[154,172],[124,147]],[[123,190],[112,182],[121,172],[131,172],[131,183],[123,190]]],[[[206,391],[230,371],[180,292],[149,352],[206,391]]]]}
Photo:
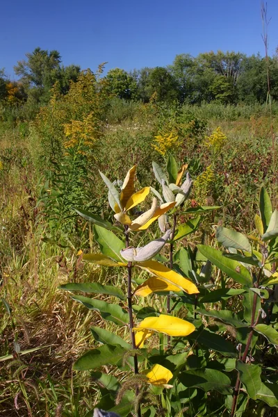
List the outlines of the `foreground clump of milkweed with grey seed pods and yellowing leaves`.
{"type": "Polygon", "coordinates": [[[121,268],[126,287],[125,293],[97,282],[60,287],[119,329],[93,326],[96,347],[73,366],[90,370],[99,384],[95,415],[277,415],[267,413],[278,407],[278,211],[262,188],[252,234],[221,225],[215,247],[188,245],[186,236],[219,207],[187,204],[193,187],[187,169],[170,155],[165,171],[153,163],[156,187],[140,190],[136,166],[123,183],[100,172],[115,221],[76,208],[92,222],[100,251],[83,261],[121,268]],[[161,236],[149,237],[154,230],[161,236]],[[136,245],[138,234],[145,245],[136,245]],[[142,306],[145,299],[149,306],[142,306]],[[124,329],[129,341],[120,336],[124,329]]]}

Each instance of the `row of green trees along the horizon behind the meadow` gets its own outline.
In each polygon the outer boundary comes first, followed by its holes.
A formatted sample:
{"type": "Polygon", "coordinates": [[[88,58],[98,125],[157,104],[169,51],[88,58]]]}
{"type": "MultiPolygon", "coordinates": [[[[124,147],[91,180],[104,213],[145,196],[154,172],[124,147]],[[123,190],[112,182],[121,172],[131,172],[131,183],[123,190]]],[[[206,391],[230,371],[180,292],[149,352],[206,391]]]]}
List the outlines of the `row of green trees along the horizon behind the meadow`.
{"type": "MultiPolygon", "coordinates": [[[[81,73],[79,65],[63,66],[58,51],[36,48],[15,65],[18,81],[10,81],[0,70],[0,101],[38,106],[47,104],[54,84],[66,94],[81,73]]],[[[152,98],[161,102],[201,104],[263,103],[268,95],[267,68],[272,99],[278,99],[278,56],[268,60],[260,54],[206,52],[196,57],[179,54],[166,67],[144,67],[133,72],[115,68],[103,79],[108,94],[145,103],[152,98]]]]}

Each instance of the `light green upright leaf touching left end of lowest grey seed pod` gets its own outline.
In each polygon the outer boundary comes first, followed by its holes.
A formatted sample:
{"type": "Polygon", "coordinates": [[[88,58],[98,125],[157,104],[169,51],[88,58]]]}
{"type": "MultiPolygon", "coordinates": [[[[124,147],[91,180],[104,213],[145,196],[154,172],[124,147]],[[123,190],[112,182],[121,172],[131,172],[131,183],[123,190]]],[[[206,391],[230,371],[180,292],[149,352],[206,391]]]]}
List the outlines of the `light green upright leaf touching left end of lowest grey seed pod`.
{"type": "Polygon", "coordinates": [[[118,262],[124,262],[120,256],[120,251],[124,249],[125,245],[122,240],[117,238],[113,231],[106,230],[103,227],[94,226],[95,240],[99,244],[101,253],[110,256],[118,262]]]}

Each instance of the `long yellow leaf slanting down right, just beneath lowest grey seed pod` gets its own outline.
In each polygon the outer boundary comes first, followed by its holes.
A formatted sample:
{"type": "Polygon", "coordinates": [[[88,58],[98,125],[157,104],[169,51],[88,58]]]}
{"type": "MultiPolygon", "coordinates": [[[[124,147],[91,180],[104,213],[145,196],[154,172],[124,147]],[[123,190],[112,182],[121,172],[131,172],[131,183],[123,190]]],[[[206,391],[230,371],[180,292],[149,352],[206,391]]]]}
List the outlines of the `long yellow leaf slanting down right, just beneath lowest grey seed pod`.
{"type": "Polygon", "coordinates": [[[172,284],[181,288],[188,294],[199,293],[197,286],[195,286],[193,282],[189,281],[189,279],[181,277],[181,275],[179,275],[177,272],[167,268],[167,266],[163,265],[162,263],[157,261],[145,261],[138,263],[137,266],[151,272],[151,274],[156,275],[156,277],[164,279],[168,284],[172,284]]]}

